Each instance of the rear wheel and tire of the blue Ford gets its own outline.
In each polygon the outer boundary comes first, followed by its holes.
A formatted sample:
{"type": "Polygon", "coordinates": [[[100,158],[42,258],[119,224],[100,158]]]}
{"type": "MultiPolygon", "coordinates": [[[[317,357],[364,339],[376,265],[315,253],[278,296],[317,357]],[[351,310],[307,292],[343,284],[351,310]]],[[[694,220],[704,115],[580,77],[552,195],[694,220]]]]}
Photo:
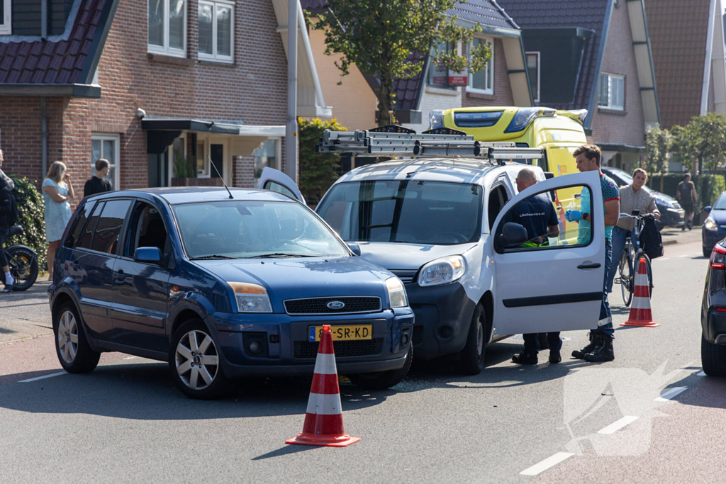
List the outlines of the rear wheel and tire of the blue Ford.
{"type": "Polygon", "coordinates": [[[70,301],[55,311],[53,334],[58,361],[66,372],[89,373],[98,366],[101,353],[91,349],[76,305],[70,301]]]}

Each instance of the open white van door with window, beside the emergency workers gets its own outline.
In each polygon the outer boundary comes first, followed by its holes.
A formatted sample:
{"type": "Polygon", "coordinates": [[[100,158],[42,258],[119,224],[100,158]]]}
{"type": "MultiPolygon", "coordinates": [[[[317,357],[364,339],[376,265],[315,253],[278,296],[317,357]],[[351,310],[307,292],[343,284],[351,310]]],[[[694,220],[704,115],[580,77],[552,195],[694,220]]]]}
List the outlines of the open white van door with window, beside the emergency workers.
{"type": "MultiPolygon", "coordinates": [[[[551,197],[547,200],[551,202],[551,197]]],[[[597,171],[540,181],[507,202],[492,230],[494,327],[499,335],[597,328],[605,280],[603,215],[597,171]],[[542,244],[528,241],[523,226],[507,223],[507,213],[518,203],[547,197],[551,191],[573,189],[582,197],[571,198],[568,206],[555,211],[560,228],[556,239],[542,244]],[[591,228],[564,223],[564,212],[580,210],[581,203],[582,210],[592,216],[591,228]]]]}

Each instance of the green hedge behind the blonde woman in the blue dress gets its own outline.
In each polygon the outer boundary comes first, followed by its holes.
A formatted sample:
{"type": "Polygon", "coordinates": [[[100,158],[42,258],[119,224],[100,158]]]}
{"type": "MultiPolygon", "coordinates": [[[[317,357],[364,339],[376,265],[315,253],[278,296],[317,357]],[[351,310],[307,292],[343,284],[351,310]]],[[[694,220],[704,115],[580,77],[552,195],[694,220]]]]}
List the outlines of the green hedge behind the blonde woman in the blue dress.
{"type": "Polygon", "coordinates": [[[5,242],[5,247],[11,245],[27,245],[38,254],[38,267],[44,270],[46,264],[46,249],[48,243],[45,239],[45,205],[43,196],[36,189],[35,182],[19,176],[8,175],[15,182],[15,189],[12,191],[17,202],[17,211],[20,219],[17,225],[22,225],[25,232],[10,237],[5,242]]]}

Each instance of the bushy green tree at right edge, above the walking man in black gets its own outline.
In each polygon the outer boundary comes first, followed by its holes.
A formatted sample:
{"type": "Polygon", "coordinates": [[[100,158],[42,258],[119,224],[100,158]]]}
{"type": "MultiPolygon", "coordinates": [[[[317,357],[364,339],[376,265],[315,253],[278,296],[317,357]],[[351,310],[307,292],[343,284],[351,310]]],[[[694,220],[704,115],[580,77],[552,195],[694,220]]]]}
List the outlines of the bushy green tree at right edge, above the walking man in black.
{"type": "Polygon", "coordinates": [[[673,152],[694,174],[716,171],[726,158],[726,118],[709,112],[693,116],[686,126],[673,126],[673,152]]]}

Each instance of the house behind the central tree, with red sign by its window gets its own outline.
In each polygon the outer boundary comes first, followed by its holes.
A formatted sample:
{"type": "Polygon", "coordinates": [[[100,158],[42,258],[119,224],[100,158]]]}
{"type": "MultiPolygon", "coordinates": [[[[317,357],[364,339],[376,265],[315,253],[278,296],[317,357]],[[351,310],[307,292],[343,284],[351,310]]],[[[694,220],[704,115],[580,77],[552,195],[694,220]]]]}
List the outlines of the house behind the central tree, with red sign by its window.
{"type": "MultiPolygon", "coordinates": [[[[314,17],[327,10],[327,3],[325,0],[303,0],[303,8],[314,17]]],[[[428,53],[414,52],[412,60],[423,61],[423,70],[414,78],[396,80],[394,115],[399,124],[417,132],[428,129],[430,113],[434,109],[532,105],[521,31],[504,9],[494,0],[468,0],[465,4],[457,4],[452,13],[459,17],[460,25],[481,25],[482,31],[476,34],[473,42],[491,45],[492,60],[485,70],[465,75],[466,86],[457,86],[449,84],[445,70],[437,70],[428,53]]],[[[310,41],[321,73],[322,90],[327,102],[333,104],[335,118],[351,129],[375,127],[378,79],[364,75],[356,67],[341,78],[334,65],[338,57],[324,54],[325,35],[313,30],[310,41]],[[338,86],[338,81],[343,84],[338,86]]],[[[456,48],[465,54],[469,46],[440,46],[440,49],[444,48],[456,48]]]]}

